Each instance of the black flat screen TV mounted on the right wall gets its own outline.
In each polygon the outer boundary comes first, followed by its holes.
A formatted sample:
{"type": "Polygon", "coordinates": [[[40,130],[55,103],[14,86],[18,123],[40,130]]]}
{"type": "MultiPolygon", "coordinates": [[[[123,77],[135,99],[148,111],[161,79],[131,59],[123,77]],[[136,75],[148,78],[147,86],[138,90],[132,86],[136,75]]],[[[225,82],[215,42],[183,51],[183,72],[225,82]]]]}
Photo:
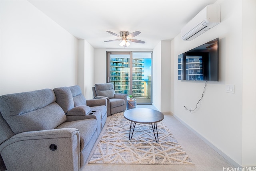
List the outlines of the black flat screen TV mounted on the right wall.
{"type": "Polygon", "coordinates": [[[178,80],[219,81],[219,38],[178,55],[178,80]]]}

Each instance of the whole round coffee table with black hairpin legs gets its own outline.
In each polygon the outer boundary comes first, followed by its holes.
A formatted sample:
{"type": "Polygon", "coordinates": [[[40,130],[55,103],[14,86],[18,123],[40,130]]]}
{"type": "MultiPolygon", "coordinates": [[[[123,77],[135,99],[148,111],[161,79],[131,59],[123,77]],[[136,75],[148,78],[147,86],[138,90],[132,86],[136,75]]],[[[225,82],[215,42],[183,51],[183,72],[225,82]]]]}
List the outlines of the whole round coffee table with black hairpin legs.
{"type": "Polygon", "coordinates": [[[157,135],[156,142],[158,142],[159,139],[158,139],[158,131],[157,131],[156,123],[164,119],[164,114],[153,109],[134,108],[134,109],[126,110],[124,112],[124,118],[131,121],[129,140],[132,140],[132,136],[130,136],[132,127],[133,127],[133,131],[132,131],[132,135],[133,135],[136,123],[140,123],[140,124],[151,124],[153,132],[156,129],[156,134],[154,132],[154,136],[156,139],[156,135],[157,135]],[[134,122],[133,126],[132,126],[132,122],[134,122]],[[153,124],[154,124],[154,127],[153,127],[153,124]]]}

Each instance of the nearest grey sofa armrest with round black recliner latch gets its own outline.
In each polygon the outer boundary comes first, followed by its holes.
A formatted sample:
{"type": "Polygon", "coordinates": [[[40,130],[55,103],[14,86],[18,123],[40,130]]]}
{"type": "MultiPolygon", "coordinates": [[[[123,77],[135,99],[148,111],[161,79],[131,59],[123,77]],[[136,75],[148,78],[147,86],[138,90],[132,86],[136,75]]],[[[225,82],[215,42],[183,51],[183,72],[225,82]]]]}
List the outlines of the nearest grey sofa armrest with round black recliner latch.
{"type": "Polygon", "coordinates": [[[75,128],[22,132],[2,143],[0,153],[7,170],[79,170],[80,134],[75,128]]]}

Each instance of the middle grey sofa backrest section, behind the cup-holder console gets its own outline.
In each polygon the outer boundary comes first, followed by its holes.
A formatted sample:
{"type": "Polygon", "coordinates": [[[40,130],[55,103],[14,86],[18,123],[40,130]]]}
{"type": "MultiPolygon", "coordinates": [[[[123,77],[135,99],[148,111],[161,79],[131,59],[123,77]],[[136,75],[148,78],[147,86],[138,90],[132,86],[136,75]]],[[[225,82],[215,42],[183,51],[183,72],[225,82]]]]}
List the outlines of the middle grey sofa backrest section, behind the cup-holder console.
{"type": "Polygon", "coordinates": [[[74,108],[74,101],[73,101],[73,96],[70,91],[70,88],[59,87],[59,88],[54,88],[53,91],[56,96],[56,102],[64,110],[65,114],[68,112],[68,110],[74,108]]]}

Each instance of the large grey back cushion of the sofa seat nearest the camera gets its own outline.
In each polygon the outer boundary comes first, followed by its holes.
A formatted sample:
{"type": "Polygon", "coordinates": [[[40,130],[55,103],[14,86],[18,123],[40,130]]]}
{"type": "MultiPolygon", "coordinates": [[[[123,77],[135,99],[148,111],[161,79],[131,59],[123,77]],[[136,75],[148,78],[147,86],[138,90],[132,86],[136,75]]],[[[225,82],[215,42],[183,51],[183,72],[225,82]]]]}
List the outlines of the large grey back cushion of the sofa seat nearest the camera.
{"type": "Polygon", "coordinates": [[[51,89],[0,96],[0,111],[14,134],[54,129],[66,122],[51,89]]]}

